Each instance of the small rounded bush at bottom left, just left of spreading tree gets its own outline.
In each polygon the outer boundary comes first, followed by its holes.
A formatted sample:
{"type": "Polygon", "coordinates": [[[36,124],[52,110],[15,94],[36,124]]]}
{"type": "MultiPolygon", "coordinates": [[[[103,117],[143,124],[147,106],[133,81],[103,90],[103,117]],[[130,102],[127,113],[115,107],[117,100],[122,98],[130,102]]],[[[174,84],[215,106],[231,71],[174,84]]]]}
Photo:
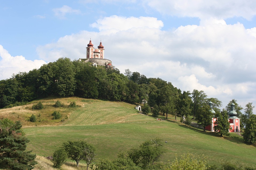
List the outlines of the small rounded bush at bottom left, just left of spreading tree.
{"type": "Polygon", "coordinates": [[[66,162],[67,153],[62,149],[57,149],[53,153],[53,167],[61,168],[61,166],[66,162]]]}

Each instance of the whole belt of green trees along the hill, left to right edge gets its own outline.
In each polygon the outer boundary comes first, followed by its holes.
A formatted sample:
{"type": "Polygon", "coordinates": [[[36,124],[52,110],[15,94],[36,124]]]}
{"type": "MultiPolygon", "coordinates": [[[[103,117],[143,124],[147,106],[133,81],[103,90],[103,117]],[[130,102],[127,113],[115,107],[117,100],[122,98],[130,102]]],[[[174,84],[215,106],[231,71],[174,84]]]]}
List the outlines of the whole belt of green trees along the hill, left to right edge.
{"type": "MultiPolygon", "coordinates": [[[[47,63],[39,69],[20,72],[10,79],[0,81],[0,108],[25,104],[34,99],[57,96],[80,96],[93,99],[125,101],[128,103],[144,103],[143,111],[152,112],[153,116],[160,113],[168,118],[169,114],[183,117],[193,116],[204,128],[210,124],[212,113],[208,103],[213,103],[215,117],[218,119],[217,131],[227,135],[229,122],[227,113],[231,103],[235,104],[237,117],[241,118],[241,127],[253,128],[256,118],[254,106],[248,103],[244,114],[243,108],[233,99],[221,111],[222,102],[217,98],[207,98],[204,91],[194,89],[193,92],[181,91],[171,82],[160,78],[147,78],[129,69],[122,74],[117,68],[106,69],[103,66],[93,67],[90,63],[81,63],[69,58],[59,58],[47,63]]],[[[249,130],[249,128],[246,128],[249,130]]],[[[255,143],[255,131],[246,131],[246,142],[255,143]]]]}

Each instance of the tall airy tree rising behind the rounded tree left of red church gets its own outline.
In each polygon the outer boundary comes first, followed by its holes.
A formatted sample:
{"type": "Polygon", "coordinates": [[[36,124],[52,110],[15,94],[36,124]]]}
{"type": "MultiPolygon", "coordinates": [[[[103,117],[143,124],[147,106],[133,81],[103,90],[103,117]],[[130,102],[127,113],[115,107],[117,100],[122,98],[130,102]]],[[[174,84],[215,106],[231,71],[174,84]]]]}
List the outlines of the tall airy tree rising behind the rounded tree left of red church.
{"type": "Polygon", "coordinates": [[[196,89],[193,90],[192,92],[192,101],[193,101],[193,119],[195,118],[195,115],[198,112],[198,109],[202,107],[206,103],[206,97],[207,95],[205,94],[204,91],[198,91],[196,89]]]}

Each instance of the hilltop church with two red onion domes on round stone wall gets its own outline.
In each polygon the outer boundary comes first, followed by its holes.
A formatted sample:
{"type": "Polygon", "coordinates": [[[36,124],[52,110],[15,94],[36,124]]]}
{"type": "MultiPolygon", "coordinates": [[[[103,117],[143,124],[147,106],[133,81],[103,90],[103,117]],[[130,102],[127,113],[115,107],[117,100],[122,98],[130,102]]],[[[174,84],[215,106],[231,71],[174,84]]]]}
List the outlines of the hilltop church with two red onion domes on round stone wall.
{"type": "Polygon", "coordinates": [[[90,42],[86,47],[86,58],[79,58],[79,62],[90,62],[95,67],[101,65],[106,68],[112,68],[112,61],[104,58],[104,50],[104,46],[101,42],[99,43],[98,48],[94,48],[90,39],[90,42]]]}

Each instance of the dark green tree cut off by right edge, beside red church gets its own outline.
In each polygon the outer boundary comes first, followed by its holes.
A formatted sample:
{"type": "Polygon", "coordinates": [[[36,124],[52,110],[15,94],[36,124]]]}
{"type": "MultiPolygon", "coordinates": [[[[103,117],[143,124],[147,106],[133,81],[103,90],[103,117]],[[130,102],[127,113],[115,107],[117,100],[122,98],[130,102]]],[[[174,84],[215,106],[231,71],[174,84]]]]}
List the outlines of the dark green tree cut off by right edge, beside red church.
{"type": "Polygon", "coordinates": [[[243,133],[243,140],[248,143],[256,143],[256,115],[252,114],[247,120],[243,133]]]}

